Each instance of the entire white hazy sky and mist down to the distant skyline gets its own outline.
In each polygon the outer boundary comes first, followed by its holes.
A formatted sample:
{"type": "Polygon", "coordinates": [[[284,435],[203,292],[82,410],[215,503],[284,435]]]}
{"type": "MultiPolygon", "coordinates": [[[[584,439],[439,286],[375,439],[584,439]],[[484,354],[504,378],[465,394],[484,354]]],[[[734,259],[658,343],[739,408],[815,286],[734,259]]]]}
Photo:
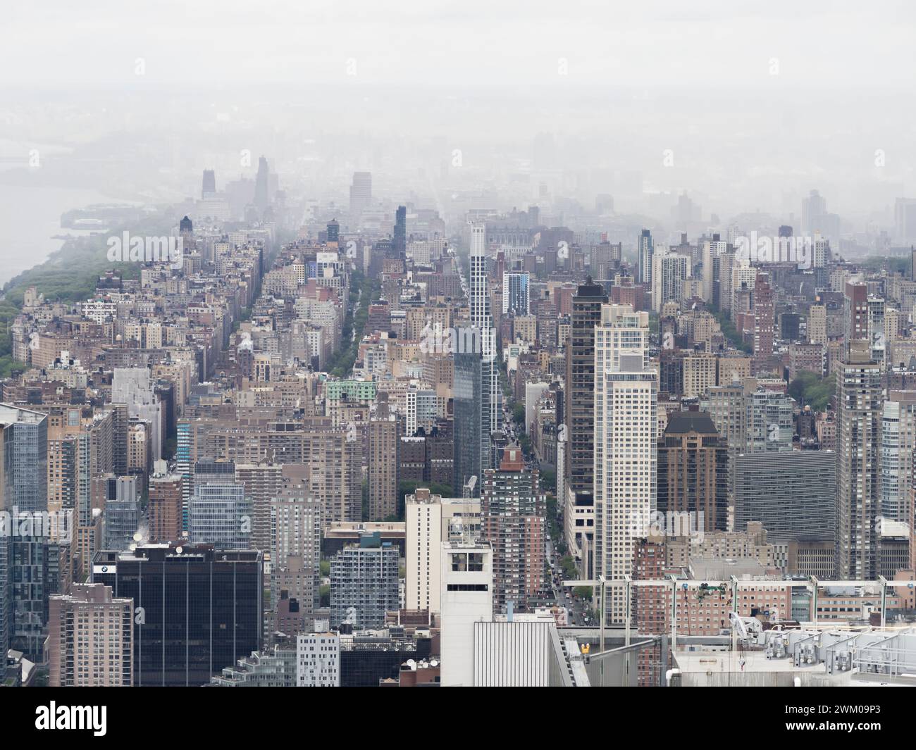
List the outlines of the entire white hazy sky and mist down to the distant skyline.
{"type": "Polygon", "coordinates": [[[369,169],[451,218],[686,192],[791,222],[818,189],[869,232],[916,198],[911,0],[7,5],[0,184],[173,201],[264,154],[301,199],[369,169]]]}

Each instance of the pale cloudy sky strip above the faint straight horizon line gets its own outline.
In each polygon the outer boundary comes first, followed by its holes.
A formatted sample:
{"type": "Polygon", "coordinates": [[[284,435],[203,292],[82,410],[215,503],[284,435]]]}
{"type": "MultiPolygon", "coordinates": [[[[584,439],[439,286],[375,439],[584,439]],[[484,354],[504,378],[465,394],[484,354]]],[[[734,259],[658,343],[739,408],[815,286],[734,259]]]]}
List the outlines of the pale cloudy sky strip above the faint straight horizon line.
{"type": "Polygon", "coordinates": [[[916,9],[907,0],[747,5],[43,0],[6,5],[0,66],[6,84],[27,87],[912,85],[916,9]]]}

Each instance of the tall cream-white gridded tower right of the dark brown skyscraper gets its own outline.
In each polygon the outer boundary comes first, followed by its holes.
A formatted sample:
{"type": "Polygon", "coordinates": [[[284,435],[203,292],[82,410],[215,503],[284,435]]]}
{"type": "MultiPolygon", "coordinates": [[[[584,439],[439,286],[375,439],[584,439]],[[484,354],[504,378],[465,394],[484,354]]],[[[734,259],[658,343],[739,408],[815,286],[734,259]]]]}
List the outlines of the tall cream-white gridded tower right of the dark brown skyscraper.
{"type": "MultiPolygon", "coordinates": [[[[656,507],[658,373],[649,366],[649,313],[602,305],[594,329],[595,571],[633,571],[633,542],[656,507]]],[[[609,587],[605,616],[622,623],[628,603],[609,587]]]]}

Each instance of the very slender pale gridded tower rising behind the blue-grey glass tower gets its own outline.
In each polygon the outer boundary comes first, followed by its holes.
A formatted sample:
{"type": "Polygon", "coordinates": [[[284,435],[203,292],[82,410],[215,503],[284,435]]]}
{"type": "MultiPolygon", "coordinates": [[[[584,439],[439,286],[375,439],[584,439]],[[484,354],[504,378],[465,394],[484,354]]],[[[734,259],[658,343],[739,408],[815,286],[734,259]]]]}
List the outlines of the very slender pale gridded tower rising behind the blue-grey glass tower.
{"type": "Polygon", "coordinates": [[[490,314],[490,294],[486,283],[486,225],[471,224],[471,275],[468,285],[468,304],[471,327],[480,332],[480,475],[493,468],[490,435],[499,429],[499,382],[496,367],[496,329],[490,314]]]}

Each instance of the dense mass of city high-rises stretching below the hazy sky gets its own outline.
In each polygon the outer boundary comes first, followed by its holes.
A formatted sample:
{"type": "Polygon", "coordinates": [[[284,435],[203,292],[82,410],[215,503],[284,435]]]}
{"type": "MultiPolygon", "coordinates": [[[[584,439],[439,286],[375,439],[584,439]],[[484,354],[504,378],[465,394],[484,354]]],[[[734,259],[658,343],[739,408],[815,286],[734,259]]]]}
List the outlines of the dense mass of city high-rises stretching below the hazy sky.
{"type": "Polygon", "coordinates": [[[7,682],[909,679],[916,201],[850,262],[817,190],[628,246],[217,177],[9,327],[7,682]]]}

